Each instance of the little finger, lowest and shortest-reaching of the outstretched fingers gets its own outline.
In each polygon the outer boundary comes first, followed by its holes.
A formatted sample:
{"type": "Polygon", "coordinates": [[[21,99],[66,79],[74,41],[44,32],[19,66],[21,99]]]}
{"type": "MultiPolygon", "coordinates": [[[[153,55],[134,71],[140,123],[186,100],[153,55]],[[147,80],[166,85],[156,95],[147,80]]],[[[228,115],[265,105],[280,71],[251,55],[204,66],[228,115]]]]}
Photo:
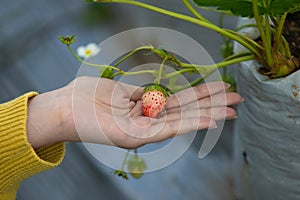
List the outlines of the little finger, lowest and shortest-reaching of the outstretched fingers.
{"type": "MultiPolygon", "coordinates": [[[[151,128],[156,128],[161,124],[152,125],[151,128]]],[[[216,128],[216,122],[209,118],[193,118],[183,120],[173,120],[166,122],[163,129],[156,135],[146,138],[146,143],[159,142],[177,135],[187,134],[191,131],[216,128]]]]}

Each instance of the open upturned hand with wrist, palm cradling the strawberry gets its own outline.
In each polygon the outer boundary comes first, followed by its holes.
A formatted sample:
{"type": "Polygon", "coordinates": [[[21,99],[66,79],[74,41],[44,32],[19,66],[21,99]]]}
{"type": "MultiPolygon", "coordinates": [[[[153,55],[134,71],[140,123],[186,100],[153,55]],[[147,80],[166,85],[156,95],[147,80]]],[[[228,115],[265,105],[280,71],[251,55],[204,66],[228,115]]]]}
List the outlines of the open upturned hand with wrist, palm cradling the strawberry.
{"type": "MultiPolygon", "coordinates": [[[[49,112],[56,113],[56,117],[48,113],[48,119],[54,118],[53,123],[59,124],[52,126],[58,127],[58,134],[52,130],[52,136],[56,139],[48,137],[43,139],[43,143],[33,146],[56,140],[136,148],[193,130],[214,128],[215,120],[235,118],[236,112],[228,106],[242,101],[237,93],[224,93],[226,87],[223,82],[214,82],[173,94],[167,101],[165,111],[154,119],[142,114],[141,87],[108,79],[79,77],[64,88],[42,94],[48,96],[47,100],[44,98],[47,104],[53,104],[54,109],[49,109],[49,112]]],[[[34,97],[29,108],[37,103],[36,98],[42,100],[42,95],[34,97]]],[[[52,120],[48,123],[51,124],[52,120]]],[[[43,129],[35,130],[40,135],[47,134],[41,133],[43,129]]]]}

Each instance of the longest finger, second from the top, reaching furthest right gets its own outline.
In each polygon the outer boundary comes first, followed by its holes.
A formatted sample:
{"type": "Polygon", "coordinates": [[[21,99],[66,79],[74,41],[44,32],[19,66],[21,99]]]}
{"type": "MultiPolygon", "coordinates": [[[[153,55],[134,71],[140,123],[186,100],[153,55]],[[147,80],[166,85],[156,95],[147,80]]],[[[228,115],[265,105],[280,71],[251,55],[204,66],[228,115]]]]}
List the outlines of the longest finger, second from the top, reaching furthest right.
{"type": "Polygon", "coordinates": [[[198,101],[191,102],[181,107],[173,107],[167,110],[168,113],[184,112],[188,110],[197,110],[201,108],[232,106],[239,104],[243,98],[238,93],[220,93],[211,97],[205,97],[198,101]]]}

